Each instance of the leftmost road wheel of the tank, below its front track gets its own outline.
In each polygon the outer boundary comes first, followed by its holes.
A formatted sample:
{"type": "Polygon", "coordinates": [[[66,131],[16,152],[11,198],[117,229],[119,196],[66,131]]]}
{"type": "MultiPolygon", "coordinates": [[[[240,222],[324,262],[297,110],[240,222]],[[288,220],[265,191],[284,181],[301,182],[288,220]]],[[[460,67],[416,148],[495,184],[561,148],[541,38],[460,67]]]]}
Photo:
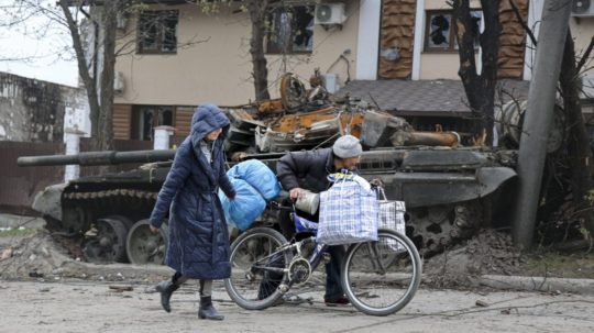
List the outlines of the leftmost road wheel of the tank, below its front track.
{"type": "Polygon", "coordinates": [[[117,219],[97,220],[97,236],[88,241],[82,247],[87,259],[91,263],[125,263],[125,234],[124,222],[117,219]]]}

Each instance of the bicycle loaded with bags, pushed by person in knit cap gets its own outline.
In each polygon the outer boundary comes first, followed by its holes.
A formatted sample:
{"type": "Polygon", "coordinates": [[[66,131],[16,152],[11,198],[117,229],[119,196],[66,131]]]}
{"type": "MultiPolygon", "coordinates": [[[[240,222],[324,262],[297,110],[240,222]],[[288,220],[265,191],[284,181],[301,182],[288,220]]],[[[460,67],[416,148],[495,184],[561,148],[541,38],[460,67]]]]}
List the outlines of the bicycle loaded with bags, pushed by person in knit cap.
{"type": "MultiPolygon", "coordinates": [[[[328,245],[316,243],[317,223],[295,213],[293,218],[297,235],[309,236],[288,242],[274,229],[255,227],[231,245],[232,273],[224,287],[241,308],[263,310],[275,304],[292,287],[308,281],[324,258],[328,245]]],[[[415,296],[422,270],[413,242],[386,229],[378,230],[376,242],[349,245],[341,267],[346,297],[370,315],[388,315],[403,309],[415,296]]]]}

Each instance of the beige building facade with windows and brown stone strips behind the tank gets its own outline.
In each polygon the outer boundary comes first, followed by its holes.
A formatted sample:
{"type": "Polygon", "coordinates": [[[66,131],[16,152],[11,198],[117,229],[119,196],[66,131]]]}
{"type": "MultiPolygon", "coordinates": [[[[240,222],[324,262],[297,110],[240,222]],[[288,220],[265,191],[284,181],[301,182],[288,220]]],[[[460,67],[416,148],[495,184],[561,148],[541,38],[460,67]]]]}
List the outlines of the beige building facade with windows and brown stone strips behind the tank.
{"type": "MultiPolygon", "coordinates": [[[[239,4],[207,13],[194,3],[179,2],[184,1],[150,4],[119,21],[119,45],[127,51],[116,65],[116,138],[152,140],[152,129],[158,125],[172,125],[176,136],[184,136],[195,106],[238,106],[254,99],[248,13],[239,4]]],[[[542,2],[515,1],[520,16],[537,36],[542,2]]],[[[282,3],[290,5],[278,5],[272,11],[265,40],[273,98],[278,97],[283,74],[294,73],[307,81],[316,68],[324,74],[331,90],[356,81],[369,86],[369,80],[378,85],[385,85],[385,80],[424,82],[422,89],[431,89],[436,81],[460,86],[452,11],[444,0],[282,3]]],[[[480,1],[471,1],[471,8],[475,30],[480,32],[484,29],[480,1]]],[[[522,81],[519,86],[514,84],[521,98],[527,95],[531,77],[534,47],[508,1],[501,1],[499,21],[498,75],[502,79],[522,81]]],[[[584,49],[594,31],[594,12],[592,18],[573,16],[571,29],[576,49],[584,49]]],[[[476,45],[480,67],[481,51],[476,45]]],[[[375,87],[370,89],[374,91],[375,87]]],[[[413,87],[416,86],[408,88],[413,87]]],[[[465,99],[458,88],[447,93],[458,93],[450,99],[465,99]]],[[[422,110],[435,108],[422,103],[418,110],[399,110],[389,103],[385,107],[396,114],[469,111],[459,110],[458,106],[453,110],[422,110]]]]}

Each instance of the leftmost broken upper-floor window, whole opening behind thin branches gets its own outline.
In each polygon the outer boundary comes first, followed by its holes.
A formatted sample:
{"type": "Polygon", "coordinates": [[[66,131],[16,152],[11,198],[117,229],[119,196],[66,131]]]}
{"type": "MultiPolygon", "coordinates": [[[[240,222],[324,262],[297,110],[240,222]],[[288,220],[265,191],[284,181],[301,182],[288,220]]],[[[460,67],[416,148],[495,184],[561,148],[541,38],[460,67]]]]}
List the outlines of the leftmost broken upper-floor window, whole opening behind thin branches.
{"type": "Polygon", "coordinates": [[[139,53],[177,52],[176,10],[143,11],[139,19],[139,53]]]}

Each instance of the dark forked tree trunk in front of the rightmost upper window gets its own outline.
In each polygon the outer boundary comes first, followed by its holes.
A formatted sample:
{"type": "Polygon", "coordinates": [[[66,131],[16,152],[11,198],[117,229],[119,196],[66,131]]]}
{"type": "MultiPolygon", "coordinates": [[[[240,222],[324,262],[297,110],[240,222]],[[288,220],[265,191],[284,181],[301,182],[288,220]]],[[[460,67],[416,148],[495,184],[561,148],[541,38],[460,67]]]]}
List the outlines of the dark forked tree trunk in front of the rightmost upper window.
{"type": "Polygon", "coordinates": [[[464,91],[475,119],[475,144],[493,143],[495,87],[497,85],[497,55],[499,51],[499,1],[482,0],[485,30],[480,36],[482,49],[481,75],[476,71],[472,16],[469,0],[453,1],[453,27],[458,40],[460,69],[464,91]]]}

